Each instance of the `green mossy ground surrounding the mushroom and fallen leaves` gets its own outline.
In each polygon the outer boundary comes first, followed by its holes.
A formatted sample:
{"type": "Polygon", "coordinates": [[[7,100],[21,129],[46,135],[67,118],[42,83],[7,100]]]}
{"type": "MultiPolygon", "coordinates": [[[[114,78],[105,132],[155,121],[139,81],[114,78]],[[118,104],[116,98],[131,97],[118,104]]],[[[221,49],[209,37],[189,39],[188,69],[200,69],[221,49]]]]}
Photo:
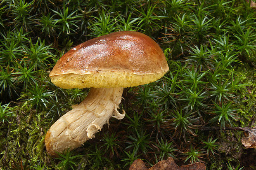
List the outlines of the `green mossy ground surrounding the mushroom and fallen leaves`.
{"type": "Polygon", "coordinates": [[[0,168],[128,169],[137,158],[149,167],[171,156],[178,165],[254,169],[242,132],[202,127],[255,127],[255,23],[244,0],[2,0],[0,168]],[[123,120],[53,158],[47,130],[89,89],[59,88],[50,70],[75,45],[119,30],[152,37],[170,71],[126,88],[123,120]]]}

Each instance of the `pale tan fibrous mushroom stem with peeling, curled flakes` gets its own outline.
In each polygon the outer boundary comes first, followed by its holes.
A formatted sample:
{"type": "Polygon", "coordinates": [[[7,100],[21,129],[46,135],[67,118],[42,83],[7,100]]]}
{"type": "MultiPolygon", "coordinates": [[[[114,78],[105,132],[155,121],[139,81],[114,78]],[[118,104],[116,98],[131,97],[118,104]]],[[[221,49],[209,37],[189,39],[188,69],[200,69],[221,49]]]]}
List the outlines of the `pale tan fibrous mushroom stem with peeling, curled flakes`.
{"type": "Polygon", "coordinates": [[[123,88],[91,88],[88,96],[79,105],[64,114],[48,130],[45,145],[51,155],[65,149],[80,147],[86,140],[95,137],[109,118],[123,119],[117,109],[123,88]]]}

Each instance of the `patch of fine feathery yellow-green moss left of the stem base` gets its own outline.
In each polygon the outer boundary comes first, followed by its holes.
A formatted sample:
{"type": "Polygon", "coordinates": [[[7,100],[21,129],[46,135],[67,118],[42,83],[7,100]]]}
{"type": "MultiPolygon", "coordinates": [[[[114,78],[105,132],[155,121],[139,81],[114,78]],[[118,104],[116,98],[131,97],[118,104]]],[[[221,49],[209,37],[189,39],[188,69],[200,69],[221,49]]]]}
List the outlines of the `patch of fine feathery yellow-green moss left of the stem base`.
{"type": "Polygon", "coordinates": [[[12,165],[8,160],[19,162],[26,158],[30,164],[47,160],[44,137],[49,123],[44,119],[45,112],[36,113],[36,110],[31,109],[26,115],[27,112],[26,108],[19,105],[16,107],[17,116],[9,121],[8,126],[0,129],[5,135],[1,140],[5,150],[1,153],[0,161],[7,167],[12,165]]]}

